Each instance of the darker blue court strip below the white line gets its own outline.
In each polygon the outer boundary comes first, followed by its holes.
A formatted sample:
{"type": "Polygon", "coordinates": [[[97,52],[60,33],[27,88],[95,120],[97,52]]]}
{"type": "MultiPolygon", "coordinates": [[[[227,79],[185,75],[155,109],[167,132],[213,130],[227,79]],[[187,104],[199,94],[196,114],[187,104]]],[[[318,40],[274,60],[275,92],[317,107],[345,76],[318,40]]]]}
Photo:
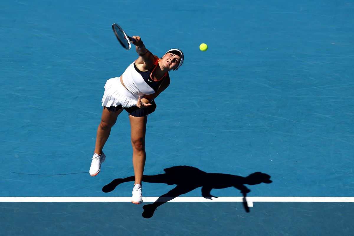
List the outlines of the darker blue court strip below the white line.
{"type": "Polygon", "coordinates": [[[177,203],[149,219],[131,203],[0,203],[1,235],[332,235],[354,230],[353,203],[177,203]]]}

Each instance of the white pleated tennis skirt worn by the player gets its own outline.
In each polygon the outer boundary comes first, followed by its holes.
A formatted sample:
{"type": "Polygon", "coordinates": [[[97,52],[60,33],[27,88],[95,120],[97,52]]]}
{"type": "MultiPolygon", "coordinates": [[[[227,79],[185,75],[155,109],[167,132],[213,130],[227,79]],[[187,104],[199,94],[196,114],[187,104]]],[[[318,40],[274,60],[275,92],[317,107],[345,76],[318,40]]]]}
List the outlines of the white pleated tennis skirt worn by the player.
{"type": "Polygon", "coordinates": [[[139,96],[144,94],[133,94],[128,91],[120,82],[120,77],[107,80],[104,85],[104,94],[102,97],[102,107],[122,107],[136,106],[139,96]]]}

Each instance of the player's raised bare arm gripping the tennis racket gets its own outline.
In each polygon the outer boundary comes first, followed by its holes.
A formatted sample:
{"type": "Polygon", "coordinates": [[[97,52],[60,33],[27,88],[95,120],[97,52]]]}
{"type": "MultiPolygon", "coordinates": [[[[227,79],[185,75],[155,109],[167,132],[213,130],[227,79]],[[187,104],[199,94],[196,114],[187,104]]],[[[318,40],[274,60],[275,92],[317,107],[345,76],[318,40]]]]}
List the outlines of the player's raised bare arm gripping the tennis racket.
{"type": "Polygon", "coordinates": [[[139,58],[135,62],[136,66],[141,70],[150,69],[156,61],[155,56],[146,49],[139,36],[133,36],[132,38],[135,39],[135,42],[132,41],[132,44],[135,45],[135,50],[139,55],[139,58]]]}

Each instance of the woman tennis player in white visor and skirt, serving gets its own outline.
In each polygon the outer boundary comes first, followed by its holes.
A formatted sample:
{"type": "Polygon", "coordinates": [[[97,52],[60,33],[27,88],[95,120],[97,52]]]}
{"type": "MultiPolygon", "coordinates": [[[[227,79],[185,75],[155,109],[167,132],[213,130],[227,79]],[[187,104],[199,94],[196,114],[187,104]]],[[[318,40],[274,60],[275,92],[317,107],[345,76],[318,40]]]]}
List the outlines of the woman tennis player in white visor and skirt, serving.
{"type": "Polygon", "coordinates": [[[97,129],[95,152],[90,175],[101,170],[105,160],[102,151],[111,128],[122,110],[129,113],[135,183],[132,203],[142,203],[141,182],[145,166],[145,132],[147,116],[155,111],[154,99],[170,85],[170,70],[177,70],[183,63],[183,53],[171,49],[162,58],[145,48],[139,36],[133,36],[138,59],[131,63],[120,77],[109,79],[104,86],[102,118],[97,129]]]}

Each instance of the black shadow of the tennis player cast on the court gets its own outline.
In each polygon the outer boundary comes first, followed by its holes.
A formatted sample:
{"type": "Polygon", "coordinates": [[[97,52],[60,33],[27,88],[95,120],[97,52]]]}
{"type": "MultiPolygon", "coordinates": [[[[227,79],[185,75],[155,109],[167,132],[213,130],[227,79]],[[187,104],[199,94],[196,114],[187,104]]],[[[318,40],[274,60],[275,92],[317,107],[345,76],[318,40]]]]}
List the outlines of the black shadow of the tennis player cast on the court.
{"type": "MultiPolygon", "coordinates": [[[[151,218],[156,208],[165,202],[168,202],[175,197],[186,194],[187,192],[190,192],[199,187],[202,187],[201,195],[211,200],[212,197],[215,197],[210,193],[212,189],[235,187],[241,191],[244,201],[243,205],[246,212],[249,212],[246,201],[246,194],[251,190],[249,190],[245,184],[255,185],[261,183],[272,183],[272,180],[270,180],[270,175],[261,172],[255,172],[247,177],[241,177],[232,174],[207,173],[192,166],[173,166],[164,169],[164,171],[166,172],[165,174],[143,175],[143,182],[165,183],[168,185],[177,186],[166,194],[160,196],[156,202],[144,205],[144,212],[142,214],[144,218],[151,218]]],[[[119,184],[131,181],[135,181],[134,176],[130,176],[124,179],[115,179],[111,183],[105,185],[102,188],[102,191],[111,192],[119,184]]]]}

